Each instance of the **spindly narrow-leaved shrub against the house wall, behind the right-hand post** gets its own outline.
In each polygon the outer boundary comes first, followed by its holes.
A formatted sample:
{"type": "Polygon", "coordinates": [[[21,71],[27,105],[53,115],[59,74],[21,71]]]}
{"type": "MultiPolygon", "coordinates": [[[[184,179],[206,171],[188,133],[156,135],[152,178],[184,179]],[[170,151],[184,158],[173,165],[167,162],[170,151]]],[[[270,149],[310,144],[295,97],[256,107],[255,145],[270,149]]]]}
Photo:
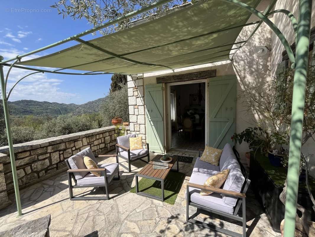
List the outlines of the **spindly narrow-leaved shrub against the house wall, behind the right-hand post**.
{"type": "MultiPolygon", "coordinates": [[[[269,134],[278,134],[278,140],[289,142],[291,112],[292,112],[292,96],[293,96],[293,77],[294,70],[286,69],[279,71],[271,80],[264,81],[259,85],[245,89],[241,95],[246,111],[253,114],[255,119],[253,123],[269,134]]],[[[302,148],[311,141],[315,145],[315,66],[310,65],[307,71],[306,92],[304,104],[303,118],[303,137],[302,148]]],[[[281,144],[280,144],[281,145],[281,144]]],[[[309,159],[313,154],[301,153],[301,166],[306,170],[306,186],[315,210],[315,200],[309,185],[309,159]]],[[[287,165],[288,156],[284,157],[284,165],[287,165]]],[[[300,166],[300,167],[301,167],[300,166]]],[[[286,198],[286,182],[284,190],[280,194],[280,200],[285,203],[286,198]]],[[[302,217],[296,216],[296,226],[300,231],[312,231],[315,229],[309,227],[307,223],[307,210],[297,204],[297,209],[302,212],[302,217]]]]}

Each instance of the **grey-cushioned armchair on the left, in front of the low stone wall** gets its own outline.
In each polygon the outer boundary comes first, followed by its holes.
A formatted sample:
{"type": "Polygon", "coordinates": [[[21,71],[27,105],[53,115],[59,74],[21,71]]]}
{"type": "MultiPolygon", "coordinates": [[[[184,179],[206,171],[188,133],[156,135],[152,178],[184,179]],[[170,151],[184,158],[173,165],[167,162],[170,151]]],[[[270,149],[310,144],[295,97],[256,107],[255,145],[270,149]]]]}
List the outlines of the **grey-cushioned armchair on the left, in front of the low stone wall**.
{"type": "Polygon", "coordinates": [[[108,200],[109,191],[108,185],[113,179],[120,179],[119,175],[119,165],[117,155],[97,155],[94,156],[92,150],[88,147],[76,155],[71,156],[65,160],[68,167],[68,182],[69,182],[69,196],[70,200],[108,200]],[[116,156],[116,163],[112,164],[98,164],[97,169],[88,169],[84,165],[83,157],[88,156],[97,163],[95,157],[112,157],[116,156]],[[101,176],[95,176],[90,172],[99,171],[101,176]],[[115,177],[117,175],[117,177],[115,177]],[[72,179],[74,180],[74,185],[72,185],[72,179]],[[105,197],[74,197],[73,188],[85,188],[85,187],[104,187],[105,197]]]}

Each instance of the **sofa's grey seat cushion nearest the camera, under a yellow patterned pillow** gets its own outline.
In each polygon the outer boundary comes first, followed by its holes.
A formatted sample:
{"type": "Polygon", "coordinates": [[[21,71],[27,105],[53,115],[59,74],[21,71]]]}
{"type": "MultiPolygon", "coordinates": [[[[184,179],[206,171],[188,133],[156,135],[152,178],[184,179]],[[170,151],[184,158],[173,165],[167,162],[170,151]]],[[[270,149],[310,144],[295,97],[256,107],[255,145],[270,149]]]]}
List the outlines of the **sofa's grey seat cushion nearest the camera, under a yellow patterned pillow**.
{"type": "MultiPolygon", "coordinates": [[[[216,171],[216,173],[219,173],[219,172],[216,171]]],[[[209,174],[192,172],[189,182],[203,185],[204,182],[208,178],[209,178],[209,174]]],[[[234,207],[226,204],[223,201],[221,194],[212,193],[207,196],[201,196],[199,193],[200,193],[200,189],[189,187],[190,200],[192,202],[215,209],[215,210],[223,211],[225,213],[229,213],[229,214],[234,213],[234,207]]]]}

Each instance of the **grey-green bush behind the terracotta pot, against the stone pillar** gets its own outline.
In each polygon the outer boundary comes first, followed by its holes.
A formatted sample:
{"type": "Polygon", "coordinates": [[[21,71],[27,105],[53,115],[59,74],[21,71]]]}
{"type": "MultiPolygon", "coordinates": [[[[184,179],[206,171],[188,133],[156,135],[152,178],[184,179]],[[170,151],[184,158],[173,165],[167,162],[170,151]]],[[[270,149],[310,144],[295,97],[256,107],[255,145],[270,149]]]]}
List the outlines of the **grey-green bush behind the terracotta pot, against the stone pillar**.
{"type": "Polygon", "coordinates": [[[112,125],[114,117],[122,118],[123,122],[129,122],[128,87],[121,85],[120,90],[111,91],[107,99],[100,106],[103,117],[103,126],[112,125]]]}

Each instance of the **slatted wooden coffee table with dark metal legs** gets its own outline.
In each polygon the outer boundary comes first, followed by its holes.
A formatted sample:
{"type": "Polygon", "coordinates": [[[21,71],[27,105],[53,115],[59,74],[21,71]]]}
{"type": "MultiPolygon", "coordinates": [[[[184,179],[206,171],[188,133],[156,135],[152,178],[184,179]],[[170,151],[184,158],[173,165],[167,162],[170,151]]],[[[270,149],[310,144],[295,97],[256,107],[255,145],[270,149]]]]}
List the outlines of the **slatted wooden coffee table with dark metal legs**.
{"type": "MultiPolygon", "coordinates": [[[[163,155],[157,155],[154,157],[152,161],[160,161],[160,158],[163,155]]],[[[171,156],[171,155],[170,155],[171,156]]],[[[150,161],[145,167],[143,167],[138,173],[136,173],[136,193],[145,197],[151,197],[160,201],[164,201],[164,180],[169,174],[169,172],[172,171],[179,171],[179,164],[178,159],[176,156],[172,156],[172,161],[167,163],[169,164],[169,167],[167,169],[153,169],[152,161],[150,161]],[[177,162],[177,170],[172,169],[175,162],[177,162]],[[145,192],[139,192],[139,185],[138,185],[138,177],[143,177],[146,179],[154,179],[161,181],[161,188],[162,188],[162,197],[154,196],[145,192]]]]}

